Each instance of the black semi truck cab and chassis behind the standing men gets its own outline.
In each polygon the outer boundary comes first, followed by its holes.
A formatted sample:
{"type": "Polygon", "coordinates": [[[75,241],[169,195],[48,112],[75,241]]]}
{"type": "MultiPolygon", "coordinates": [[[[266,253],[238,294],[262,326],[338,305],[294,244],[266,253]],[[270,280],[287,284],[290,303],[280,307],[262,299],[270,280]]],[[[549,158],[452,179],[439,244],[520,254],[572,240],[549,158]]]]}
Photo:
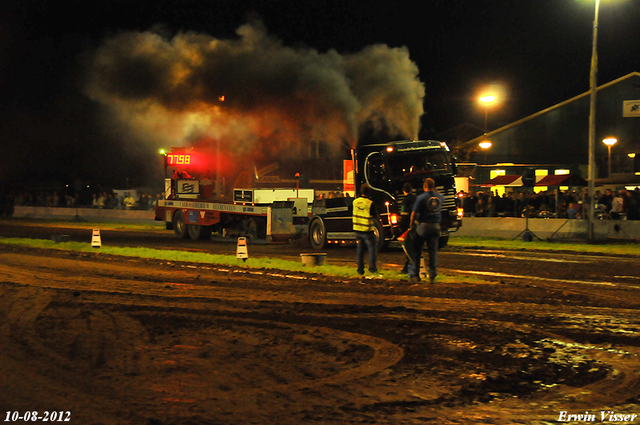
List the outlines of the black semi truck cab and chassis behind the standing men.
{"type": "MultiPolygon", "coordinates": [[[[401,140],[391,143],[362,145],[351,151],[353,190],[362,183],[371,189],[371,199],[380,213],[374,222],[378,249],[398,239],[401,227],[400,206],[404,199],[402,187],[410,183],[419,195],[423,182],[431,177],[437,190],[444,195],[440,247],[447,245],[449,234],[462,226],[463,210],[456,198],[456,164],[449,157],[449,148],[436,140],[401,140]]],[[[355,241],[352,229],[353,197],[317,199],[309,216],[308,237],[314,249],[330,244],[355,241]]]]}

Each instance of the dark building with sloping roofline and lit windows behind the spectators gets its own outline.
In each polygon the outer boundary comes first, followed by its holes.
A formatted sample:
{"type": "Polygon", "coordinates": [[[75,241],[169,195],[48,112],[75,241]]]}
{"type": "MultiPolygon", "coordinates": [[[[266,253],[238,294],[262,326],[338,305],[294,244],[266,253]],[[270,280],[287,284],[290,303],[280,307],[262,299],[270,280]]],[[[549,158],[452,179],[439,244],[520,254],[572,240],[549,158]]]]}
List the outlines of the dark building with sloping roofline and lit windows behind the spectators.
{"type": "MultiPolygon", "coordinates": [[[[546,175],[573,173],[587,178],[589,101],[590,92],[585,92],[488,132],[491,148],[474,151],[478,166],[472,185],[499,175],[521,175],[525,186],[546,175]]],[[[640,153],[640,73],[598,87],[596,111],[596,184],[640,185],[633,158],[640,153]],[[611,176],[608,147],[602,143],[608,137],[618,140],[611,150],[611,176]]],[[[464,145],[475,147],[484,139],[478,135],[464,145]]]]}

